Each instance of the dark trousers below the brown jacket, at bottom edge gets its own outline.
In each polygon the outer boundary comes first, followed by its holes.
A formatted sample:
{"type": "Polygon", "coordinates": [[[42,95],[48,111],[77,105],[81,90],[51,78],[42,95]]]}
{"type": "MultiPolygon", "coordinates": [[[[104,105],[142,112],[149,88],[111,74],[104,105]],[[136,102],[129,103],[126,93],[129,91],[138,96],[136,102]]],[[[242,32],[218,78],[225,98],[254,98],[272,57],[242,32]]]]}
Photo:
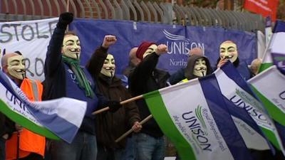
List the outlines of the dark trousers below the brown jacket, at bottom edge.
{"type": "Polygon", "coordinates": [[[125,149],[108,149],[98,145],[97,160],[122,160],[125,149]]]}

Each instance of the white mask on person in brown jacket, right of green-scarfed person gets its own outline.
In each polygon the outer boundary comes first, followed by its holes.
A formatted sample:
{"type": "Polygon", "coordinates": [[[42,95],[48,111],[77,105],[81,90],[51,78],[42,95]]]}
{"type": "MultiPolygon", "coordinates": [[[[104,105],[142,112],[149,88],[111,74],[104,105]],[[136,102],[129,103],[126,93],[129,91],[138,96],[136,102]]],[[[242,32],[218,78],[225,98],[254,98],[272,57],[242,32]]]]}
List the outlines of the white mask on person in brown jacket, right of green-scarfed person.
{"type": "Polygon", "coordinates": [[[109,78],[113,78],[115,75],[115,59],[113,55],[108,54],[104,61],[101,73],[109,78]]]}

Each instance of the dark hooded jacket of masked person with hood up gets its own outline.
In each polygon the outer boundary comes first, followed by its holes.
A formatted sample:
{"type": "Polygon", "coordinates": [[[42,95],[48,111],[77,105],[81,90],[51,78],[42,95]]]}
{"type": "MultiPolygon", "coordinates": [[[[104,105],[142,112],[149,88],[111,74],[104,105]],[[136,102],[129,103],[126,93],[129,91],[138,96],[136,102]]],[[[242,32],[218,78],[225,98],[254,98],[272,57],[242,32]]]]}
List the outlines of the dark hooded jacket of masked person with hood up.
{"type": "MultiPolygon", "coordinates": [[[[173,73],[170,76],[170,78],[169,78],[170,84],[175,85],[177,82],[180,82],[181,80],[184,80],[185,78],[187,78],[187,80],[192,80],[194,78],[197,78],[197,76],[193,75],[194,66],[195,66],[196,60],[199,58],[202,58],[202,57],[204,57],[204,56],[202,56],[202,55],[191,55],[187,60],[186,68],[180,68],[179,70],[177,70],[175,73],[173,73]]],[[[207,65],[206,75],[209,75],[212,73],[212,67],[209,63],[208,58],[204,57],[204,59],[206,60],[206,65],[207,65]]]]}

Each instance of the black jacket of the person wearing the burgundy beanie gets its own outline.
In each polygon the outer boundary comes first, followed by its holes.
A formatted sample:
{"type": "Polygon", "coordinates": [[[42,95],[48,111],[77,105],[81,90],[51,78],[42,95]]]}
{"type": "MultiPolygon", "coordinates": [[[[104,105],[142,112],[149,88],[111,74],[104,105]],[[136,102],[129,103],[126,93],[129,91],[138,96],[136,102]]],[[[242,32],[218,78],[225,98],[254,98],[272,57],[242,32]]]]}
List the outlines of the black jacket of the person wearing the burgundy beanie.
{"type": "MultiPolygon", "coordinates": [[[[134,97],[167,86],[166,81],[170,75],[167,72],[155,69],[158,58],[159,55],[155,53],[147,55],[135,70],[133,70],[133,73],[130,73],[129,89],[134,97]]],[[[136,103],[141,119],[145,119],[145,117],[150,115],[150,110],[148,110],[145,100],[137,100],[136,103]]],[[[143,124],[141,132],[149,134],[152,137],[162,137],[163,135],[160,127],[153,118],[143,124]]]]}

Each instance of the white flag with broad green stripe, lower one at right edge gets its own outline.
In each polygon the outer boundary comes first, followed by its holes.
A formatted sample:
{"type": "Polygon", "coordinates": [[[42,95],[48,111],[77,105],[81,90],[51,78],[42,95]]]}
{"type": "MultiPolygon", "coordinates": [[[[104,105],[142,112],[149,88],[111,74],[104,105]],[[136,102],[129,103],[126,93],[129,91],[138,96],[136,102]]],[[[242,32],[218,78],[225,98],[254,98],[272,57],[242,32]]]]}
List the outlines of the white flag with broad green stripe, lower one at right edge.
{"type": "MultiPolygon", "coordinates": [[[[277,129],[285,131],[285,75],[282,75],[276,65],[273,65],[248,82],[275,120],[277,129]]],[[[282,134],[280,131],[279,134],[285,142],[285,132],[282,134]]]]}

